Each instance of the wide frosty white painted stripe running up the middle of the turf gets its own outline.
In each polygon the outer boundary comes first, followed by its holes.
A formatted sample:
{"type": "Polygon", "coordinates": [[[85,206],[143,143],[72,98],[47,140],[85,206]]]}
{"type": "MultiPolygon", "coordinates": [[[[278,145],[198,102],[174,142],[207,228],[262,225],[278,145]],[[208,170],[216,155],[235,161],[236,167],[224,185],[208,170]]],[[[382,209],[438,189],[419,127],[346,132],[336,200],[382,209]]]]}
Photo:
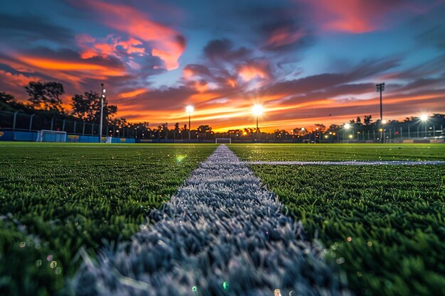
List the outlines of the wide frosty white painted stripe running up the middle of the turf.
{"type": "Polygon", "coordinates": [[[85,260],[76,295],[350,295],[282,207],[221,145],[131,242],[85,260]]]}

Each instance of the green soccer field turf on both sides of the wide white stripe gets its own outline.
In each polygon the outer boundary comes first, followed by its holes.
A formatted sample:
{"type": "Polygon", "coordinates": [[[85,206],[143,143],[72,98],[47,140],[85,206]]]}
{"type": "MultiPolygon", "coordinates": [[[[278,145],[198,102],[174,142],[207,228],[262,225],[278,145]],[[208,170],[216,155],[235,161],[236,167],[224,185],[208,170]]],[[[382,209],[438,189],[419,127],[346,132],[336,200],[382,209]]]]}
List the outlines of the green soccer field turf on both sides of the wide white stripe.
{"type": "MultiPolygon", "coordinates": [[[[108,241],[129,241],[141,224],[154,224],[151,209],[168,202],[216,147],[0,143],[0,295],[60,294],[84,261],[80,249],[95,258],[113,248],[108,241]]],[[[306,239],[326,247],[328,265],[340,268],[353,293],[444,293],[445,165],[251,163],[443,161],[444,145],[228,147],[277,194],[283,213],[303,223],[306,239]]],[[[231,177],[222,174],[221,181],[231,177]]]]}

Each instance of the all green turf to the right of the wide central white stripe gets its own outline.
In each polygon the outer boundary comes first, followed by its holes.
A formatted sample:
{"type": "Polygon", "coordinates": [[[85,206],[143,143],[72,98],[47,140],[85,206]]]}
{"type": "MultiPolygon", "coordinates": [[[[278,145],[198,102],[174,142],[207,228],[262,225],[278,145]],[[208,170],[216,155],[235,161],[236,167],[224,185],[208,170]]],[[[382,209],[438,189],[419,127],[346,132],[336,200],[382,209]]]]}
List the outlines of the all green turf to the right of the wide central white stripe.
{"type": "MultiPolygon", "coordinates": [[[[350,160],[371,149],[272,147],[230,146],[247,160],[350,160]]],[[[445,146],[400,147],[401,155],[385,146],[353,159],[444,159],[445,146]]],[[[251,168],[306,234],[328,248],[328,260],[340,265],[356,295],[445,295],[444,165],[251,168]]]]}

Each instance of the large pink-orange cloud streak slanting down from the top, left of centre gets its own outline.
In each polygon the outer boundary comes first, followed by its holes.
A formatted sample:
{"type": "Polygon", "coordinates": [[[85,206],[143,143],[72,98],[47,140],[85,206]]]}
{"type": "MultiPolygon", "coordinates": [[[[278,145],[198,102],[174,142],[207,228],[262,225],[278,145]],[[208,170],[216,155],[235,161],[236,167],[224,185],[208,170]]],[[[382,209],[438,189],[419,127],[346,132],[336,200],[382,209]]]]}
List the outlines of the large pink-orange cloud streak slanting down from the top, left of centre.
{"type": "Polygon", "coordinates": [[[110,28],[150,43],[153,46],[152,55],[160,57],[167,70],[178,67],[178,59],[185,48],[185,42],[180,33],[149,20],[147,16],[131,6],[102,1],[87,3],[100,13],[103,22],[110,28]]]}

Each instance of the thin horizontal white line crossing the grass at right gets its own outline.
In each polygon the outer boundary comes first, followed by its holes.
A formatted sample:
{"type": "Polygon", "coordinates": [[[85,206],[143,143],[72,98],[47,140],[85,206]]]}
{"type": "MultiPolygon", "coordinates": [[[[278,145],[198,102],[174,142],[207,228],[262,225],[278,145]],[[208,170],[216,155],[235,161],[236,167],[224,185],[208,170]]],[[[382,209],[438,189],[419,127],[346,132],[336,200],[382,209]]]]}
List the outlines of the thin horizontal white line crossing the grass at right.
{"type": "Polygon", "coordinates": [[[441,160],[247,161],[248,165],[445,165],[441,160]]]}

